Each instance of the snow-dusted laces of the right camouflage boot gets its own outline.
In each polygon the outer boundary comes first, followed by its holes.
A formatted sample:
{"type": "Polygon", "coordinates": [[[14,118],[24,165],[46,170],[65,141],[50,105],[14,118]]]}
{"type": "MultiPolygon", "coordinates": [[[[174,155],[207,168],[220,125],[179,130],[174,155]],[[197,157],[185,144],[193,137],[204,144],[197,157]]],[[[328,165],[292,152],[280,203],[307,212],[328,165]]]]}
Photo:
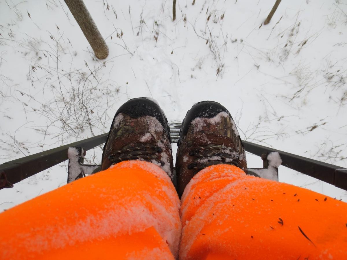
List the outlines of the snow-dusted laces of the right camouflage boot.
{"type": "Polygon", "coordinates": [[[188,170],[200,171],[214,164],[231,164],[241,168],[240,155],[231,148],[200,146],[189,151],[189,155],[196,158],[193,163],[187,165],[188,170]]]}

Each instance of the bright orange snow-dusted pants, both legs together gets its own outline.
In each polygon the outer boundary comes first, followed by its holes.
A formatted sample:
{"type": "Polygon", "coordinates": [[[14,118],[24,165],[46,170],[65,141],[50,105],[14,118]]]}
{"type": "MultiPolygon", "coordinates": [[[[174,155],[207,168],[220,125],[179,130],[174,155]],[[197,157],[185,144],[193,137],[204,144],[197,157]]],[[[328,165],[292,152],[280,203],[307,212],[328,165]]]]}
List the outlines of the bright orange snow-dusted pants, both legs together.
{"type": "Polygon", "coordinates": [[[167,174],[121,162],[0,214],[0,259],[347,259],[347,203],[200,171],[181,202],[167,174]]]}

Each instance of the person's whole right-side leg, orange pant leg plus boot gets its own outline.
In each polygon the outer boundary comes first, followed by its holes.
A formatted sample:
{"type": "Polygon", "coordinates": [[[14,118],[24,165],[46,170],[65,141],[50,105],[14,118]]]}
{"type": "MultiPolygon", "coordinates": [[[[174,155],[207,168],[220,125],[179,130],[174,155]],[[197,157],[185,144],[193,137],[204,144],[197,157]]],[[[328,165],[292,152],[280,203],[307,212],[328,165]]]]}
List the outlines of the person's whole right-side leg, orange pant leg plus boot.
{"type": "Polygon", "coordinates": [[[347,258],[347,204],[246,175],[242,141],[220,104],[188,111],[176,169],[181,259],[347,258]]]}

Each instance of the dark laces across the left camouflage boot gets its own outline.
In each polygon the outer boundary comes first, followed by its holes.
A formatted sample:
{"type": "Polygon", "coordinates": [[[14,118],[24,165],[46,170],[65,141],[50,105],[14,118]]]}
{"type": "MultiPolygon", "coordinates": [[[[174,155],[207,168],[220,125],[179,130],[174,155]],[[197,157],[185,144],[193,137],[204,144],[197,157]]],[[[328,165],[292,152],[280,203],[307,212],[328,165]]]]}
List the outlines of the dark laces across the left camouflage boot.
{"type": "Polygon", "coordinates": [[[112,164],[138,159],[150,162],[154,160],[161,164],[158,160],[158,153],[161,153],[161,151],[162,149],[156,145],[138,145],[135,147],[112,151],[108,158],[112,164]]]}

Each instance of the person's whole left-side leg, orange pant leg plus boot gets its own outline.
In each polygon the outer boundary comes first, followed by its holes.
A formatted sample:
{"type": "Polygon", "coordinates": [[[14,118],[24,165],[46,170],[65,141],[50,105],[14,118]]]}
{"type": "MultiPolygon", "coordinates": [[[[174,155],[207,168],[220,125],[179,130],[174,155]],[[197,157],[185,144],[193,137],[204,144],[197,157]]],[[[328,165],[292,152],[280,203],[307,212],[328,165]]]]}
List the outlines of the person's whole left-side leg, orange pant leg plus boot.
{"type": "Polygon", "coordinates": [[[104,171],[0,214],[0,259],[177,257],[172,168],[160,107],[146,98],[128,101],[112,122],[104,171]]]}

